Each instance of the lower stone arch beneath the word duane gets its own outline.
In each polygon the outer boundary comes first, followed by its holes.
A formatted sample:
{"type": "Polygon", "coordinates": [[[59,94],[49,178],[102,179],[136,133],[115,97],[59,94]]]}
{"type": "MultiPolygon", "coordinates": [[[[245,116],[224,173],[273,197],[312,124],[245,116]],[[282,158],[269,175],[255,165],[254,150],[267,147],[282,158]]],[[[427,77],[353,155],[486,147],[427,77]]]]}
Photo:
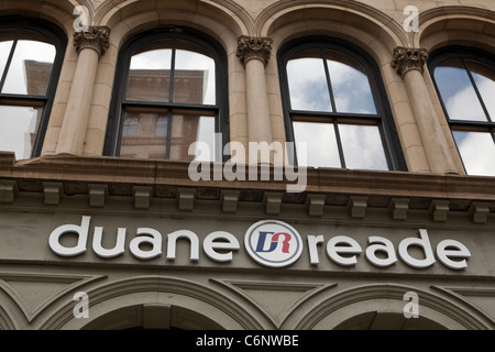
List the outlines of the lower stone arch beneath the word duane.
{"type": "MultiPolygon", "coordinates": [[[[109,319],[114,328],[133,328],[132,323],[116,323],[116,318],[136,317],[145,308],[163,309],[170,314],[189,317],[189,319],[183,319],[183,323],[176,328],[205,329],[210,324],[209,328],[229,330],[261,329],[255,317],[235,301],[206,286],[174,277],[124,278],[88,290],[87,295],[89,297],[88,319],[74,317],[75,301],[70,300],[48,318],[41,329],[101,328],[105,319],[109,319]]],[[[138,317],[133,321],[142,321],[142,319],[138,317]]]]}

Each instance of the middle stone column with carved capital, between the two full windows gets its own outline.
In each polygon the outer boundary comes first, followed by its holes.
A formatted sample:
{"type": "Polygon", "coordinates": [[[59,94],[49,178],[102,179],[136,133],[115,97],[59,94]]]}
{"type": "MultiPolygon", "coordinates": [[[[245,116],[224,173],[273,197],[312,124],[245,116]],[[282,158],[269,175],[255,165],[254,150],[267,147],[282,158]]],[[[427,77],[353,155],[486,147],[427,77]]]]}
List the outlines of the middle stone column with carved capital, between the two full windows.
{"type": "MultiPolygon", "coordinates": [[[[266,89],[265,67],[272,54],[272,38],[240,36],[238,57],[245,67],[248,136],[250,142],[272,143],[268,95],[266,89]]],[[[256,153],[257,154],[257,153],[256,153]]],[[[249,154],[250,162],[260,161],[257,155],[249,154]]]]}

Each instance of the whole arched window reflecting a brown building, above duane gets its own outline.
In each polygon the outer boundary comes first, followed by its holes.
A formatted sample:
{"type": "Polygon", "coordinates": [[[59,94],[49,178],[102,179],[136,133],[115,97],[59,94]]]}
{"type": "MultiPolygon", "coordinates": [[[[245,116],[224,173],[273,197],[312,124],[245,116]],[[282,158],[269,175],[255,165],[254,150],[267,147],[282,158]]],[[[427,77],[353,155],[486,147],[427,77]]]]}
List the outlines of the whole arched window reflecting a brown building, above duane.
{"type": "Polygon", "coordinates": [[[106,155],[221,161],[229,140],[221,46],[170,28],[139,35],[120,58],[106,155]]]}

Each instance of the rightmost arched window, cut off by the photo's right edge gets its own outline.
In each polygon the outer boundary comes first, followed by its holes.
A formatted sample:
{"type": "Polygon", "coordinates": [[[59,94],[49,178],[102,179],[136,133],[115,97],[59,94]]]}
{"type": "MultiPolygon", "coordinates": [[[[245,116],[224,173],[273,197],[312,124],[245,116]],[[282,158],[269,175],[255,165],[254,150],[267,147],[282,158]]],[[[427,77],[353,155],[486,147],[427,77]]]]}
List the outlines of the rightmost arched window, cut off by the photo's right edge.
{"type": "Polygon", "coordinates": [[[447,47],[429,68],[469,175],[495,176],[495,61],[493,54],[447,47]]]}

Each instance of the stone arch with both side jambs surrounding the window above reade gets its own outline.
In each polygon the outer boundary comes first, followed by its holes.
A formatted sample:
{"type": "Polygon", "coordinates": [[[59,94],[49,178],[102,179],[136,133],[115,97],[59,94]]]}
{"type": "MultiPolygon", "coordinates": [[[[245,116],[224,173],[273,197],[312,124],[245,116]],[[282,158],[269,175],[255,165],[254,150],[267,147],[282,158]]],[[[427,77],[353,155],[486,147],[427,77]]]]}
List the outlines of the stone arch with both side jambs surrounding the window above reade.
{"type": "MultiPolygon", "coordinates": [[[[408,36],[402,24],[371,6],[339,0],[304,0],[297,3],[287,0],[278,1],[260,13],[255,23],[258,36],[273,38],[272,56],[266,67],[273,141],[284,143],[286,136],[277,67],[279,48],[300,37],[327,36],[337,37],[360,47],[377,64],[399,140],[403,143],[402,150],[409,150],[413,142],[407,140],[408,131],[400,129],[400,125],[413,118],[411,111],[409,107],[403,108],[399,105],[404,105],[404,96],[407,94],[404,82],[391,67],[394,48],[408,43],[408,36]],[[405,109],[408,109],[406,113],[405,109]]],[[[425,152],[421,150],[418,154],[419,156],[416,157],[416,154],[409,156],[405,153],[406,163],[411,170],[426,168],[422,165],[413,164],[416,160],[426,164],[425,152]]]]}

